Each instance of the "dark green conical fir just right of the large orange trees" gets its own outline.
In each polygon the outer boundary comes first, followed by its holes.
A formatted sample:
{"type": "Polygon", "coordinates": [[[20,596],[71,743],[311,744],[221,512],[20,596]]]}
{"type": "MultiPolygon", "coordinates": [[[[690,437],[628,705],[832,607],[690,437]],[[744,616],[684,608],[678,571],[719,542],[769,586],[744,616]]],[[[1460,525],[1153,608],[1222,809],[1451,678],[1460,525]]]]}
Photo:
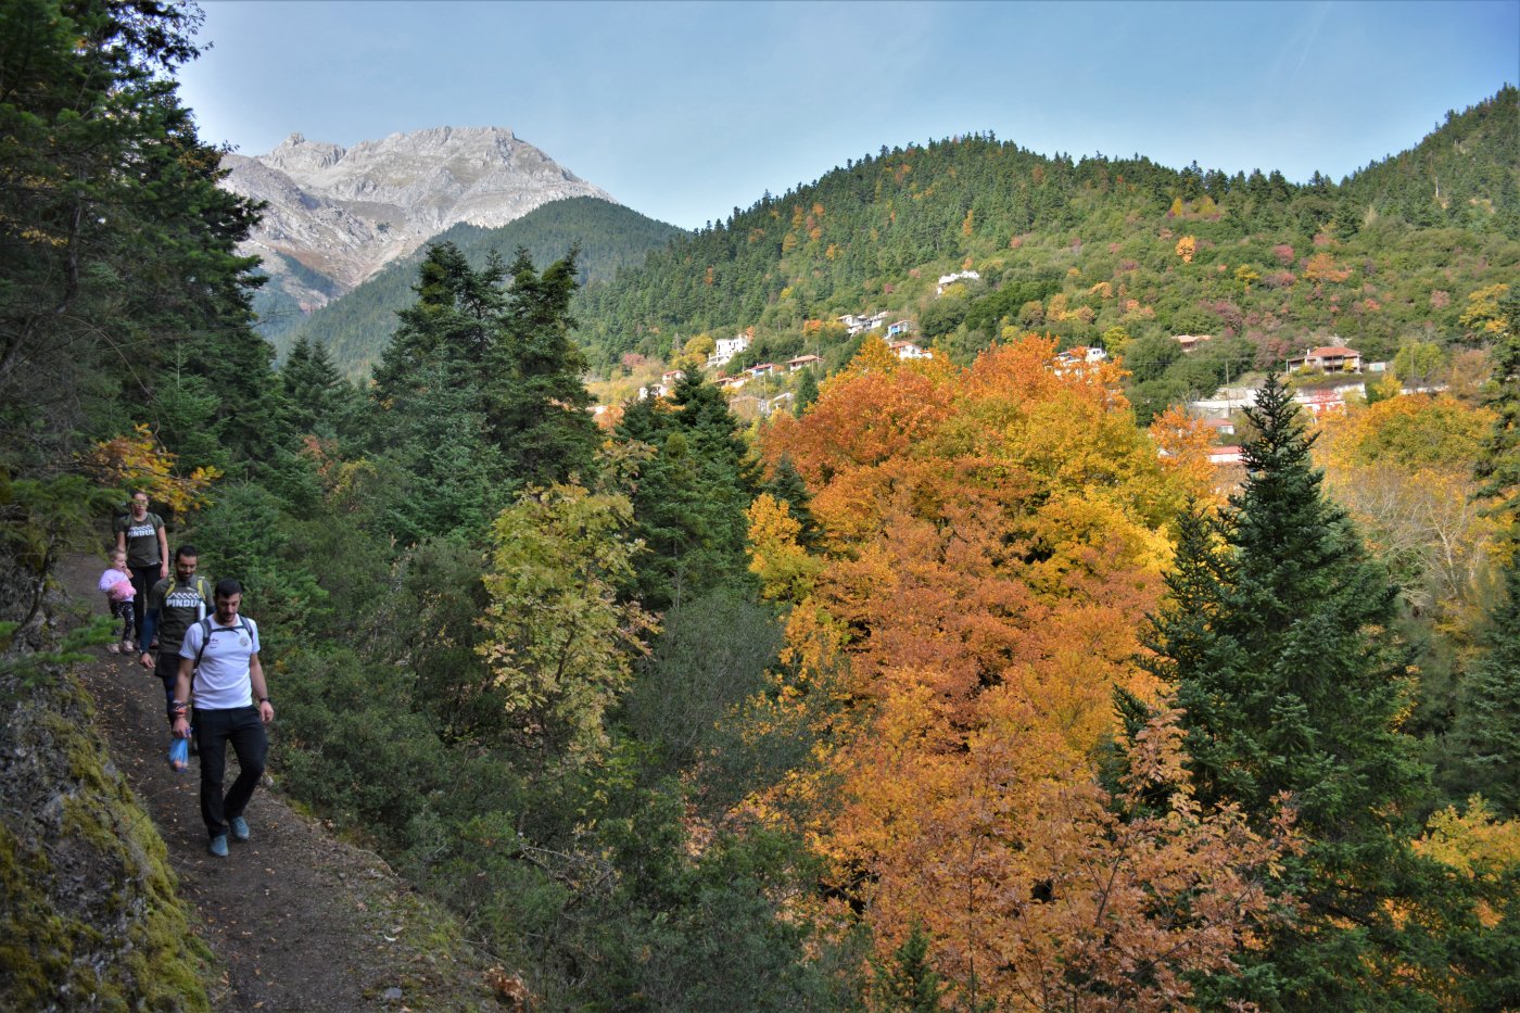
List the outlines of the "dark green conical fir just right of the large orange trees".
{"type": "Polygon", "coordinates": [[[1286,882],[1303,914],[1211,990],[1263,1008],[1423,1008],[1423,943],[1394,905],[1420,888],[1408,811],[1424,777],[1398,732],[1397,589],[1322,494],[1278,377],[1248,415],[1248,478],[1216,520],[1184,525],[1149,646],[1186,709],[1199,800],[1263,821],[1280,797],[1297,809],[1306,849],[1286,882]]]}

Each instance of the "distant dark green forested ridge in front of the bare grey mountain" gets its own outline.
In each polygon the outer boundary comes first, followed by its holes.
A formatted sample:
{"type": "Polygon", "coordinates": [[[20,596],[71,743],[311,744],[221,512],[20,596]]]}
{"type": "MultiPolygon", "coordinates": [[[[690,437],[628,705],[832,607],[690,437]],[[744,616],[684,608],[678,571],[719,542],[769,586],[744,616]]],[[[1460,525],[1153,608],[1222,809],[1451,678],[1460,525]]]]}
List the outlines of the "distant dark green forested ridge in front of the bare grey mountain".
{"type": "MultiPolygon", "coordinates": [[[[637,211],[596,198],[572,198],[538,207],[500,228],[454,225],[435,237],[453,243],[474,266],[488,251],[523,248],[537,263],[579,249],[576,263],[584,281],[610,281],[617,271],[641,263],[651,249],[663,246],[679,230],[637,211]]],[[[426,249],[401,257],[385,271],[310,315],[293,306],[255,303],[260,332],[275,350],[286,353],[301,338],[324,345],[333,364],[347,376],[368,374],[369,367],[395,333],[395,312],[410,304],[416,265],[426,249]]],[[[299,265],[296,265],[299,268],[299,265]]]]}

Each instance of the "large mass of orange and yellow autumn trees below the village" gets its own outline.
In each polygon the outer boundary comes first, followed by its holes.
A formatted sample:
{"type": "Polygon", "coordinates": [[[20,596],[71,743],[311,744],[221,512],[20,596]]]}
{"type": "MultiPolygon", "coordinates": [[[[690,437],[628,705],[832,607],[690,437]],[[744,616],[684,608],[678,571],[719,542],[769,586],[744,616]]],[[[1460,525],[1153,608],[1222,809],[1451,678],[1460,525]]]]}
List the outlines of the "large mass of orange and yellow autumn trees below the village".
{"type": "Polygon", "coordinates": [[[1111,365],[1056,373],[1038,338],[970,370],[877,345],[765,438],[807,481],[825,552],[801,567],[757,503],[755,572],[795,604],[790,692],[836,706],[818,776],[757,806],[834,786],[801,806],[834,891],[883,954],[927,931],[970,999],[1170,1008],[1186,970],[1246,943],[1286,846],[1186,788],[1142,805],[1186,780],[1164,706],[1117,792],[1096,777],[1114,688],[1155,698],[1135,631],[1170,519],[1208,490],[1135,427],[1111,365]]]}

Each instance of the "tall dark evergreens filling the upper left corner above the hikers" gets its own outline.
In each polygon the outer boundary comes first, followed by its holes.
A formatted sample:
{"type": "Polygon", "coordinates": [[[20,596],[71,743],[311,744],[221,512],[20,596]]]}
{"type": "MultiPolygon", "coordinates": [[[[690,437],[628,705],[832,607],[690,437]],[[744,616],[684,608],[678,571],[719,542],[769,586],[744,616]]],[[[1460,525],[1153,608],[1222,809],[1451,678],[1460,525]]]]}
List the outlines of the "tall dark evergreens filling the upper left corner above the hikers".
{"type": "Polygon", "coordinates": [[[193,29],[157,0],[0,5],[0,467],[163,429],[185,392],[208,395],[213,444],[269,450],[257,260],[234,252],[257,213],[216,186],[220,152],[179,102],[193,29]]]}

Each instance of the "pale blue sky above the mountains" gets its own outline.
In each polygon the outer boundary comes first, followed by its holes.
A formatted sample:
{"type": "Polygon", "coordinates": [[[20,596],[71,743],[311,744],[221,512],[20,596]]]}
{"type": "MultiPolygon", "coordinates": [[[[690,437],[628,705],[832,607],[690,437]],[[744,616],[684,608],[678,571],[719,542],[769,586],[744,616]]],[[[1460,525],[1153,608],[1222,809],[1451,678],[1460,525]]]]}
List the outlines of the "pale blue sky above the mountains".
{"type": "Polygon", "coordinates": [[[1520,0],[202,6],[211,49],[181,93],[208,141],[506,126],[687,228],[985,131],[1339,179],[1520,79],[1520,0]]]}

